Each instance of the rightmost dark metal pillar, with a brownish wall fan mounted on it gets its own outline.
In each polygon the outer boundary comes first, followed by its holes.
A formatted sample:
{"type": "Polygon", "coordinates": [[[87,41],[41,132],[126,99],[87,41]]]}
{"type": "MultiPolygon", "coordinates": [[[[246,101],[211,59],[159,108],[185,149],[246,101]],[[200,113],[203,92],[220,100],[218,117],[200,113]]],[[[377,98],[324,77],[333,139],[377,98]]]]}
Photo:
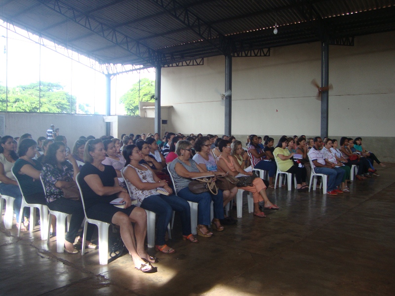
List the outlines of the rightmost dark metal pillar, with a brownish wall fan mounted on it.
{"type": "MultiPolygon", "coordinates": [[[[329,42],[321,42],[321,87],[329,84],[329,42]]],[[[329,92],[321,92],[321,138],[328,136],[329,92]]]]}

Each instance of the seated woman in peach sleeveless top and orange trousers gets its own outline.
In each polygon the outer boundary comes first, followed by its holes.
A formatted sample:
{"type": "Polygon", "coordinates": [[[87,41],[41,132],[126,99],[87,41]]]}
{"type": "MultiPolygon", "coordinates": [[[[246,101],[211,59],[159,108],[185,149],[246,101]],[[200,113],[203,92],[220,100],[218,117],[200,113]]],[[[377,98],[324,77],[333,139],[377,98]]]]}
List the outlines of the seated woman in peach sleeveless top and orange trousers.
{"type": "MultiPolygon", "coordinates": [[[[221,151],[221,155],[217,158],[217,165],[221,171],[226,174],[237,176],[239,173],[251,176],[252,172],[246,172],[240,168],[237,160],[230,154],[231,144],[228,140],[221,140],[218,144],[218,148],[221,151]]],[[[266,195],[266,185],[263,183],[261,178],[255,178],[252,182],[252,186],[238,187],[240,189],[247,190],[252,193],[254,198],[254,216],[264,218],[265,213],[259,209],[259,203],[265,201],[265,209],[277,210],[277,205],[270,202],[266,195]]]]}

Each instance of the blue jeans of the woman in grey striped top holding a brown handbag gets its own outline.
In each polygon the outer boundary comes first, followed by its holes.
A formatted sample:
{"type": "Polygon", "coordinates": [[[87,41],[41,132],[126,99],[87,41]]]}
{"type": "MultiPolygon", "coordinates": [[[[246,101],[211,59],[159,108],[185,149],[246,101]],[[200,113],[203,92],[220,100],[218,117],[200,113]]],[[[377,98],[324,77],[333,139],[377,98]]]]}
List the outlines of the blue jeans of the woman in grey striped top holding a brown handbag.
{"type": "Polygon", "coordinates": [[[192,193],[188,187],[178,191],[178,196],[181,198],[197,202],[197,224],[210,225],[210,210],[211,210],[211,200],[214,202],[214,218],[224,219],[224,196],[222,190],[218,189],[218,194],[213,195],[210,192],[203,192],[200,194],[192,193]]]}

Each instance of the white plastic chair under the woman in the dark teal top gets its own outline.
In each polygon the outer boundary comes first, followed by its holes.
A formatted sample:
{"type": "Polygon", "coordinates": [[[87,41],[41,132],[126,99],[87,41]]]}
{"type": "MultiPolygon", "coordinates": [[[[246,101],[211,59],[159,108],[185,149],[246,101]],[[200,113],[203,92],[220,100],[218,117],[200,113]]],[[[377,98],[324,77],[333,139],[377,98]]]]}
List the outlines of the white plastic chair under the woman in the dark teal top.
{"type": "Polygon", "coordinates": [[[22,204],[21,204],[21,210],[19,211],[19,226],[18,226],[18,237],[21,236],[21,223],[22,223],[22,218],[23,218],[23,209],[25,207],[30,207],[30,221],[29,221],[29,230],[33,231],[34,225],[35,225],[35,218],[36,218],[36,208],[40,210],[40,231],[41,231],[41,240],[46,240],[47,239],[47,231],[48,229],[47,224],[48,224],[48,207],[46,205],[41,205],[41,204],[30,204],[27,203],[25,200],[25,196],[23,195],[23,191],[21,188],[21,185],[19,184],[18,179],[15,176],[13,168],[11,169],[12,175],[14,176],[16,182],[18,183],[19,190],[21,190],[22,194],[22,204]]]}

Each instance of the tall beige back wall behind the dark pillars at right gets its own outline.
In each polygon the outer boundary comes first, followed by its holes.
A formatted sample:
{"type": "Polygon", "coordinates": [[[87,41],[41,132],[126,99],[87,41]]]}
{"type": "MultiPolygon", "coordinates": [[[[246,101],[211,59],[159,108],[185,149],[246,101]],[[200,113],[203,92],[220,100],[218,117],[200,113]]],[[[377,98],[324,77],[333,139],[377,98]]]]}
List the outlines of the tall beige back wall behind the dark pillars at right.
{"type": "MultiPolygon", "coordinates": [[[[330,46],[329,135],[395,136],[394,65],[395,32],[356,37],[355,46],[330,46]]],[[[173,106],[168,130],[224,132],[224,73],[224,57],[162,69],[162,105],[173,106]]],[[[318,42],[272,48],[270,57],[234,58],[232,133],[318,135],[313,78],[320,81],[318,42]]]]}

